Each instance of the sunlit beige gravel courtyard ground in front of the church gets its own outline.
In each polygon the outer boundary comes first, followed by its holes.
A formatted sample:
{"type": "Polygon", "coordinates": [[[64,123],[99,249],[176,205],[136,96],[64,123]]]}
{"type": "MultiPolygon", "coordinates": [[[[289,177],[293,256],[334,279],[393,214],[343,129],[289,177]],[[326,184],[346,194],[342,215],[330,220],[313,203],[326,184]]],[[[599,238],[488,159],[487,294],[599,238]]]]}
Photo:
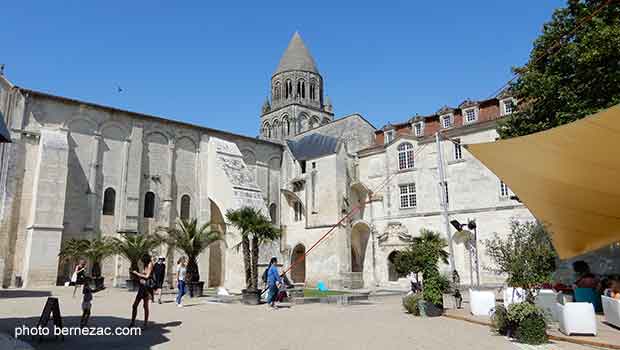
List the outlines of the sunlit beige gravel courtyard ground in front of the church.
{"type": "MultiPolygon", "coordinates": [[[[47,296],[60,300],[65,326],[79,324],[80,295],[70,288],[0,291],[0,332],[35,325],[47,296]]],[[[107,289],[95,294],[91,326],[129,324],[134,294],[107,289]]],[[[152,325],[141,336],[73,336],[32,342],[37,349],[518,349],[483,326],[447,318],[420,319],[402,311],[399,297],[368,305],[294,305],[277,311],[265,306],[210,303],[187,298],[177,308],[173,295],[152,305],[152,325]]],[[[142,317],[140,309],[139,319],[142,317]]],[[[139,325],[142,323],[139,322],[139,325]]],[[[31,341],[30,339],[24,339],[31,341]]],[[[583,349],[556,343],[550,349],[583,349]]]]}

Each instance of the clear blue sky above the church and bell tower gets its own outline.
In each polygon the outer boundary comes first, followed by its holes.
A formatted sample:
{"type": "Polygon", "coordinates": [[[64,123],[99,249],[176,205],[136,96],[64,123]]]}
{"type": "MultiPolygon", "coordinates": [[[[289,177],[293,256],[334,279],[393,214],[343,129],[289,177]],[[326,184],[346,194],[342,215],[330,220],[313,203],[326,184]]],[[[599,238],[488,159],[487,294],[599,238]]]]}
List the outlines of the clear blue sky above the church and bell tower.
{"type": "Polygon", "coordinates": [[[0,63],[18,86],[255,136],[269,79],[298,30],[336,116],[358,112],[380,127],[488,98],[563,5],[8,1],[0,63]]]}

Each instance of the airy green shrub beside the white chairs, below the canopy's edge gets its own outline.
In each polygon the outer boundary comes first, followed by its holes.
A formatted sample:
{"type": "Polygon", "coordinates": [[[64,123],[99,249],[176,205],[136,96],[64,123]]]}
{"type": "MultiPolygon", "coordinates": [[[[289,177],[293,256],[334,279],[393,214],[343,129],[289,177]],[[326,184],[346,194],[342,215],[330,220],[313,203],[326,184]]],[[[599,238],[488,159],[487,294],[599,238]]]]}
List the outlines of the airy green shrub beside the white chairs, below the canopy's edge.
{"type": "Polygon", "coordinates": [[[496,233],[484,244],[496,264],[490,270],[508,275],[508,285],[523,288],[526,299],[534,302],[540,285],[551,280],[557,257],[545,227],[537,222],[513,221],[506,238],[496,233]]]}

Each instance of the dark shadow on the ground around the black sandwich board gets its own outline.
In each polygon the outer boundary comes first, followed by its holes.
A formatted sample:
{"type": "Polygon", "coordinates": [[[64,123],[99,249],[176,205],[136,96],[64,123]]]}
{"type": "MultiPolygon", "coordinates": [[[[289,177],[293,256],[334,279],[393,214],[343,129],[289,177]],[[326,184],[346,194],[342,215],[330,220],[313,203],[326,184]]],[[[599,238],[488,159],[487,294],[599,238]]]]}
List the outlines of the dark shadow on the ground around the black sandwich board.
{"type": "MultiPolygon", "coordinates": [[[[5,318],[0,319],[0,332],[11,336],[15,334],[15,328],[22,325],[28,327],[36,326],[39,321],[38,317],[28,318],[5,318]]],[[[63,327],[78,327],[80,324],[79,316],[67,316],[62,318],[63,327]]],[[[122,317],[112,316],[93,316],[88,322],[89,327],[110,327],[112,332],[116,327],[127,327],[130,320],[122,317]]],[[[50,327],[52,322],[50,321],[50,327]]],[[[20,340],[30,343],[36,349],[52,350],[52,349],[151,349],[157,344],[170,341],[166,333],[170,331],[167,328],[178,327],[181,321],[172,321],[167,323],[149,322],[149,327],[142,330],[141,335],[121,336],[121,335],[89,335],[65,336],[64,341],[56,339],[53,335],[44,337],[39,341],[39,337],[20,337],[20,340]]],[[[136,321],[136,325],[141,326],[140,320],[136,321]]]]}

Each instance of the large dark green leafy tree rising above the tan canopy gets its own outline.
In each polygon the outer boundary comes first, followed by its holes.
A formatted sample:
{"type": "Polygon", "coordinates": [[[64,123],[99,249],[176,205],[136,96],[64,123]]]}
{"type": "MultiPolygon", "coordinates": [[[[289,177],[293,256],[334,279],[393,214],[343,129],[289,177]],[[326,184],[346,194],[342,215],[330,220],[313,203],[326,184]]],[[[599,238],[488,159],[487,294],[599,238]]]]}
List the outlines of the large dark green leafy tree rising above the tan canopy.
{"type": "Polygon", "coordinates": [[[528,63],[514,68],[520,76],[510,90],[519,110],[500,122],[502,138],[570,123],[620,103],[620,2],[596,12],[606,2],[568,0],[544,25],[528,63]]]}

